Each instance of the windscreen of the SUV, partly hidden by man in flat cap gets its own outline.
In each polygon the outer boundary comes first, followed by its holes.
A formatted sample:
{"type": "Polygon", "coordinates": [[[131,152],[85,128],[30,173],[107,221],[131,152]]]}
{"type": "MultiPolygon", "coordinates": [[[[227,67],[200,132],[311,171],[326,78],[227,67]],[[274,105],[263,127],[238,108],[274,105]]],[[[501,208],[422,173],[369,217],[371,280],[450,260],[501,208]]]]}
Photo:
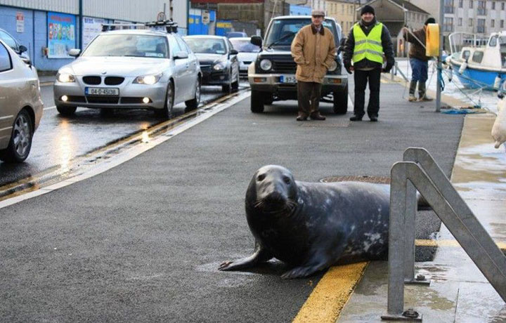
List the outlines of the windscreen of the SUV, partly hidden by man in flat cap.
{"type": "MultiPolygon", "coordinates": [[[[273,47],[290,47],[297,32],[306,25],[311,25],[311,17],[273,20],[264,46],[274,44],[273,47]]],[[[330,29],[332,34],[337,34],[332,20],[323,20],[323,26],[330,29]]]]}

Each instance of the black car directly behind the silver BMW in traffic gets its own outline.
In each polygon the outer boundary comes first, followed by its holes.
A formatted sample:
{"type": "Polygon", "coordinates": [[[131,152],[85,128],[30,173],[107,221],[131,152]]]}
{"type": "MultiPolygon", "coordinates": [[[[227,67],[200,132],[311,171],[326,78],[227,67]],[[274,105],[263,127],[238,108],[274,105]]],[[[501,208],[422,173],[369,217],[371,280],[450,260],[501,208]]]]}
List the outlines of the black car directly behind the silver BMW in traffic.
{"type": "Polygon", "coordinates": [[[195,35],[183,39],[200,62],[202,85],[221,85],[223,92],[239,87],[238,51],[226,37],[195,35]]]}

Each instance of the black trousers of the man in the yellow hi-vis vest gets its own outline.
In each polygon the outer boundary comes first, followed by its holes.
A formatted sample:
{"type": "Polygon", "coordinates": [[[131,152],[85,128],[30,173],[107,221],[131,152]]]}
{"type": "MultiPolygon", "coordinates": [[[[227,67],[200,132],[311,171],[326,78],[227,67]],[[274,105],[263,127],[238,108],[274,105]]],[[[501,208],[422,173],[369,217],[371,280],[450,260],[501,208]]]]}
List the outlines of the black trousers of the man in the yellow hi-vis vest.
{"type": "Polygon", "coordinates": [[[365,105],[365,87],[369,81],[369,104],[368,116],[377,117],[380,111],[380,77],[381,69],[361,71],[355,70],[353,72],[355,79],[355,106],[353,107],[353,114],[362,117],[365,105]]]}

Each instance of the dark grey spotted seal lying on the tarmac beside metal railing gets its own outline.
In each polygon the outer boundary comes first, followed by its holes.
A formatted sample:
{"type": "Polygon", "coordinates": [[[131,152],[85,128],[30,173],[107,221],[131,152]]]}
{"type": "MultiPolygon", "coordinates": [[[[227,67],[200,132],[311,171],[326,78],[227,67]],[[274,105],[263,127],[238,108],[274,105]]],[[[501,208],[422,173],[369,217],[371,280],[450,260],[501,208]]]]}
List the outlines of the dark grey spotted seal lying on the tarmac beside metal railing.
{"type": "Polygon", "coordinates": [[[294,180],[283,166],[261,167],[246,192],[252,256],[221,263],[241,270],[277,258],[292,266],[283,278],[307,277],[337,263],[385,259],[390,185],[294,180]]]}

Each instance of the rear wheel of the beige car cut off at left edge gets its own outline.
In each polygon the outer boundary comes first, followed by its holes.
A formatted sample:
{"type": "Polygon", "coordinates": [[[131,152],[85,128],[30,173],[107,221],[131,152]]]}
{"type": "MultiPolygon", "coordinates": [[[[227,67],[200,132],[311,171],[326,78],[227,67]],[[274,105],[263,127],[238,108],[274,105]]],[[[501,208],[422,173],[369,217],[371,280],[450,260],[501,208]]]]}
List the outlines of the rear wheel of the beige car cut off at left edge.
{"type": "Polygon", "coordinates": [[[0,160],[8,163],[20,163],[27,159],[32,148],[33,133],[30,113],[27,110],[21,110],[14,120],[8,147],[0,150],[0,160]]]}

